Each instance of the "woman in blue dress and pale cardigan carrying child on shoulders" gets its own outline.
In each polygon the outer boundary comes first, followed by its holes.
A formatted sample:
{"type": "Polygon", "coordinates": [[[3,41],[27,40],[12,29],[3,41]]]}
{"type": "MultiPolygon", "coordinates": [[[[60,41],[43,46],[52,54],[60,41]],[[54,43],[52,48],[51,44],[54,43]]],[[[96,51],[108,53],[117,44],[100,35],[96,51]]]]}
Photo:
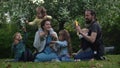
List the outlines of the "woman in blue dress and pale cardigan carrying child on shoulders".
{"type": "Polygon", "coordinates": [[[51,61],[58,58],[54,49],[50,46],[52,39],[57,39],[57,34],[55,32],[50,33],[50,19],[43,20],[41,22],[41,28],[43,31],[37,31],[34,40],[34,47],[38,51],[37,55],[35,56],[35,62],[51,61]]]}

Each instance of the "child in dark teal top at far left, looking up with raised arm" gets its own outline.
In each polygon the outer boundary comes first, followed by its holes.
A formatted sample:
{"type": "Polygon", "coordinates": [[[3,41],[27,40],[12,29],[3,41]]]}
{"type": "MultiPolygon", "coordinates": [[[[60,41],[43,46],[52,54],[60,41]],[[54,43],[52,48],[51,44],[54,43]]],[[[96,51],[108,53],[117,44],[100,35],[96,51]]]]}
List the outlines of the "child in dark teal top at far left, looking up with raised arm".
{"type": "MultiPolygon", "coordinates": [[[[26,30],[24,29],[24,36],[27,37],[26,30]]],[[[12,51],[14,53],[14,62],[17,61],[32,61],[32,53],[25,46],[25,41],[22,40],[22,35],[19,32],[16,32],[13,36],[14,41],[12,44],[12,51]]]]}

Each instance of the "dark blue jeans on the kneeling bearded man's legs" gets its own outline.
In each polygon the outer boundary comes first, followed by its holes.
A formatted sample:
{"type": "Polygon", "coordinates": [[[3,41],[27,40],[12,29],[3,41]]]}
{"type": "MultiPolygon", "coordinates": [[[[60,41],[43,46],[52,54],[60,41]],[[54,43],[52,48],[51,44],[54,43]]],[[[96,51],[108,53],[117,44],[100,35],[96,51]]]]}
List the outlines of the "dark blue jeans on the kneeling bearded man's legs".
{"type": "Polygon", "coordinates": [[[86,50],[80,51],[76,56],[74,56],[74,59],[80,59],[80,60],[89,60],[94,58],[94,52],[91,48],[87,48],[86,50]]]}

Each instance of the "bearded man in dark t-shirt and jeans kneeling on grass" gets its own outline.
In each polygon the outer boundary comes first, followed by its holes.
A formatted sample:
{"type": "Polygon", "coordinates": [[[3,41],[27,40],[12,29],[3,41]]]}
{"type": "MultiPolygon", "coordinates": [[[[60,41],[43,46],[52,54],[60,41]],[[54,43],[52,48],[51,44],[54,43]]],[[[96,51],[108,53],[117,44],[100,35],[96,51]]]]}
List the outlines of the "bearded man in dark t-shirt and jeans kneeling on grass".
{"type": "Polygon", "coordinates": [[[86,46],[90,49],[84,51],[82,53],[78,53],[75,56],[75,59],[97,59],[102,60],[104,59],[104,47],[102,42],[102,31],[99,23],[96,19],[96,13],[93,10],[86,10],[85,11],[85,20],[86,24],[88,25],[88,35],[82,32],[80,26],[76,26],[77,32],[79,32],[86,41],[86,46]]]}

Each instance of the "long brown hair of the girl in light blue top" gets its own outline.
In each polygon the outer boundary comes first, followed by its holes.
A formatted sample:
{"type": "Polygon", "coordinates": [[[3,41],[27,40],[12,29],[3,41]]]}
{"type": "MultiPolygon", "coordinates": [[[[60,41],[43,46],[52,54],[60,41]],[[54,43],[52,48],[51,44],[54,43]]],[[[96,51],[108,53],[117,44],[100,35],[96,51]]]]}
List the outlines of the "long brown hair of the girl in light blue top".
{"type": "Polygon", "coordinates": [[[67,30],[61,30],[59,32],[60,35],[62,35],[63,40],[66,40],[68,42],[68,52],[69,55],[72,55],[72,47],[71,47],[71,38],[70,38],[70,34],[67,30]]]}

